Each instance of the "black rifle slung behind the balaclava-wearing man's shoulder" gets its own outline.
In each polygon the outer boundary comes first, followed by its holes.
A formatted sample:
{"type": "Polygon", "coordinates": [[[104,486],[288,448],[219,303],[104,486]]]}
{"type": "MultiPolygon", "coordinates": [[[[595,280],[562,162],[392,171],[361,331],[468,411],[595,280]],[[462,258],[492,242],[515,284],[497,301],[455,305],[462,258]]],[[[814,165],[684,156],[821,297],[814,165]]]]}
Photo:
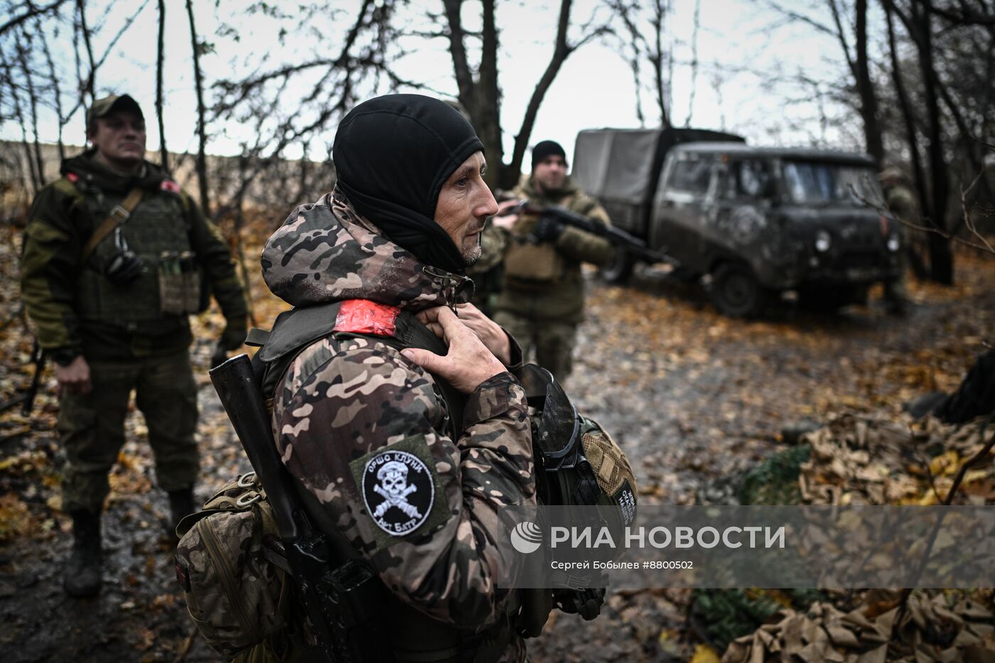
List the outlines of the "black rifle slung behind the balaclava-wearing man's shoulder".
{"type": "Polygon", "coordinates": [[[311,525],[274,445],[249,355],[228,359],[210,375],[273,507],[281,541],[267,557],[294,579],[317,648],[336,663],[393,660],[390,637],[377,628],[386,587],[364,561],[342,563],[333,542],[311,525]]]}

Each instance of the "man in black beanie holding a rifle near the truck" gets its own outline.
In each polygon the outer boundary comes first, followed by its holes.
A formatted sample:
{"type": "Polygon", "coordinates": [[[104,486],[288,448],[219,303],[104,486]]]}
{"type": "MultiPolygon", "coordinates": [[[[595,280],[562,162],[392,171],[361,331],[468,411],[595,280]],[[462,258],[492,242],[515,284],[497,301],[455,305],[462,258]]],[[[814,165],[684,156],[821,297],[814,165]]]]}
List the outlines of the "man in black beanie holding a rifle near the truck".
{"type": "MultiPolygon", "coordinates": [[[[536,143],[532,172],[522,177],[514,196],[537,207],[560,205],[609,225],[608,213],[570,180],[566,167],[559,143],[536,143]]],[[[536,362],[561,381],[570,373],[577,325],[584,319],[580,265],[604,265],[613,255],[608,240],[549,217],[521,215],[510,230],[495,322],[521,343],[526,357],[534,347],[536,362]]]]}

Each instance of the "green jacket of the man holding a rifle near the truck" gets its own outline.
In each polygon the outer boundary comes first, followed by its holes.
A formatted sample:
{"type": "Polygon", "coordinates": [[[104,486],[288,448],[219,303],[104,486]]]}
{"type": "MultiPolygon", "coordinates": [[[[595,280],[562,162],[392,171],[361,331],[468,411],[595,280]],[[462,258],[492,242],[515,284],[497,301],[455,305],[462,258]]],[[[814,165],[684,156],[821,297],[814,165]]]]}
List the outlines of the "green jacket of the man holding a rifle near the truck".
{"type": "MultiPolygon", "coordinates": [[[[608,213],[598,201],[587,195],[567,178],[565,186],[555,193],[540,193],[534,186],[531,176],[523,175],[513,194],[527,198],[533,205],[561,205],[583,214],[594,221],[610,225],[608,213]]],[[[503,292],[497,298],[497,310],[533,320],[550,320],[560,323],[580,323],[584,319],[584,281],[581,276],[581,263],[603,265],[611,260],[614,248],[603,237],[577,228],[566,227],[555,244],[540,244],[547,247],[547,255],[529,256],[526,264],[556,263],[556,276],[552,280],[533,282],[528,274],[517,274],[514,262],[507,260],[515,238],[528,235],[538,221],[533,216],[522,216],[511,230],[508,247],[505,250],[503,292]]],[[[532,249],[534,252],[535,249],[532,249]]]]}

